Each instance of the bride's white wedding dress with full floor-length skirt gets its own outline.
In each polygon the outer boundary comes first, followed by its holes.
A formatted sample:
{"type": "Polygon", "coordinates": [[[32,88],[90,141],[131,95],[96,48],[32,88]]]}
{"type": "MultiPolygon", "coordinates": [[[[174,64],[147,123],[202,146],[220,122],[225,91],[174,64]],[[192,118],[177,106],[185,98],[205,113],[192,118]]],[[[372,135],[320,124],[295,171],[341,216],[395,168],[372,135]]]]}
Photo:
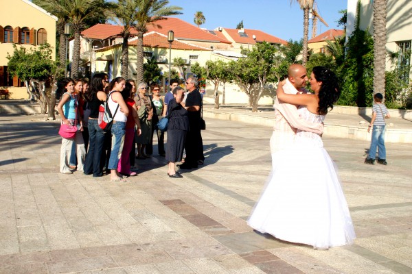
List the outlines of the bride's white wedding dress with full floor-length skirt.
{"type": "MultiPolygon", "coordinates": [[[[324,115],[299,108],[308,121],[324,115]]],[[[248,224],[288,242],[328,249],[350,245],[354,226],[336,166],[321,137],[298,130],[293,147],[273,154],[273,170],[248,224]]]]}

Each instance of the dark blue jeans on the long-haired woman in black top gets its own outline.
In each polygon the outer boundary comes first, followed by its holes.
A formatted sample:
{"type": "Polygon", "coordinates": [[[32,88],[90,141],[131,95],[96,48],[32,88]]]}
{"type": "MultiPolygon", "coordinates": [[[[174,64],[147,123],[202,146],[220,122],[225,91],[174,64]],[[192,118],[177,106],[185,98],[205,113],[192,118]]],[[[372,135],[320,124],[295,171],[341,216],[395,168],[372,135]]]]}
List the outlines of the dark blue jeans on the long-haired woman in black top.
{"type": "Polygon", "coordinates": [[[92,174],[93,177],[103,176],[102,158],[104,132],[98,125],[98,119],[89,119],[89,151],[87,151],[86,162],[84,163],[84,174],[92,174]]]}

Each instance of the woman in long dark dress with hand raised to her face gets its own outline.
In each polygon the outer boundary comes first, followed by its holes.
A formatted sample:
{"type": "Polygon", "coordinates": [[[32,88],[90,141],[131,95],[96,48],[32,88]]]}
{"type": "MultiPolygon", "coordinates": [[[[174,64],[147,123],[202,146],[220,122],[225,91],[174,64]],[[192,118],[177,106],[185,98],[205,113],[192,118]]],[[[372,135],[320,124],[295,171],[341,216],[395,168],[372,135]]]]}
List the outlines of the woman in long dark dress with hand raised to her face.
{"type": "Polygon", "coordinates": [[[173,99],[168,103],[168,145],[166,146],[166,160],[169,162],[168,175],[171,178],[182,178],[176,172],[176,162],[181,162],[187,130],[189,130],[189,119],[187,110],[183,108],[181,102],[185,96],[185,90],[180,86],[174,88],[173,99]]]}

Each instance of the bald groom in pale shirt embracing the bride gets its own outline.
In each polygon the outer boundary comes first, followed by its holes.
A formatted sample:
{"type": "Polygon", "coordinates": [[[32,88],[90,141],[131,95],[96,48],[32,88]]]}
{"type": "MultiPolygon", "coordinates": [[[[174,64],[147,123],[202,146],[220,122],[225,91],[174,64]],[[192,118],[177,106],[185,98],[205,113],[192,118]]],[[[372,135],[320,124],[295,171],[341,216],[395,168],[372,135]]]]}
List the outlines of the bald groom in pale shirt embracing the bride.
{"type": "MultiPolygon", "coordinates": [[[[301,64],[292,64],[288,68],[288,78],[284,84],[284,92],[288,94],[306,93],[304,87],[308,82],[306,68],[301,64]]],[[[279,83],[280,85],[280,83],[279,83]]],[[[306,121],[299,116],[297,105],[283,103],[276,97],[275,99],[275,126],[271,136],[271,153],[286,149],[293,145],[293,140],[297,129],[305,132],[314,132],[321,135],[323,133],[323,124],[306,121]]],[[[273,157],[272,157],[272,160],[273,157]]],[[[272,161],[274,162],[274,161],[272,161]]]]}

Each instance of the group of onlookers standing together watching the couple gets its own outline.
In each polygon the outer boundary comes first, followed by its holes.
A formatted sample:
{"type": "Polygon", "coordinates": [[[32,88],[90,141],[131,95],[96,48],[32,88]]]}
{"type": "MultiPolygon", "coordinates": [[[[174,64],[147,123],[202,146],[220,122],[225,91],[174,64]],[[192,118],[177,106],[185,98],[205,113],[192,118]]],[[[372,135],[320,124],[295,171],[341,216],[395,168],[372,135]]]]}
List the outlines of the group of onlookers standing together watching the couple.
{"type": "Polygon", "coordinates": [[[197,79],[187,79],[187,92],[178,84],[178,80],[172,79],[170,92],[165,97],[160,96],[160,86],[152,84],[150,97],[146,95],[146,83],[137,85],[136,94],[133,79],[116,77],[109,83],[106,73],[95,74],[90,84],[81,79],[62,79],[63,94],[58,112],[62,123],[78,127],[78,132],[75,138],[62,138],[60,172],[71,174],[77,170],[100,177],[106,169],[110,171],[111,181],[124,182],[124,177],[137,175],[132,169],[135,158],[150,158],[154,132],[157,133],[159,155],[169,162],[169,177],[183,177],[175,171],[175,163],[183,160],[184,149],[189,162],[185,162],[182,169],[197,167],[198,161],[203,164],[202,101],[198,100],[201,95],[196,89],[197,79]],[[105,101],[113,116],[110,132],[104,132],[98,125],[100,105],[105,101]],[[156,127],[163,117],[170,119],[167,151],[165,133],[156,127]],[[192,136],[191,139],[186,135],[192,136]]]}

